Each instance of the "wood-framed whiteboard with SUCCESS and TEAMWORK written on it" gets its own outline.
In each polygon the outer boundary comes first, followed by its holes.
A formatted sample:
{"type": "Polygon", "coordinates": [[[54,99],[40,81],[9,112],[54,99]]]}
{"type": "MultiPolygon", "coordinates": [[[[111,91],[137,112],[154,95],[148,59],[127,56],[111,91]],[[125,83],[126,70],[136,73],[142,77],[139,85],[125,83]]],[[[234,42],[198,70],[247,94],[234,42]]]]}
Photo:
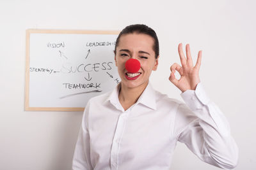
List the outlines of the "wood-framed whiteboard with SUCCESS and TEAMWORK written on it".
{"type": "Polygon", "coordinates": [[[28,29],[25,110],[83,111],[120,82],[118,31],[28,29]]]}

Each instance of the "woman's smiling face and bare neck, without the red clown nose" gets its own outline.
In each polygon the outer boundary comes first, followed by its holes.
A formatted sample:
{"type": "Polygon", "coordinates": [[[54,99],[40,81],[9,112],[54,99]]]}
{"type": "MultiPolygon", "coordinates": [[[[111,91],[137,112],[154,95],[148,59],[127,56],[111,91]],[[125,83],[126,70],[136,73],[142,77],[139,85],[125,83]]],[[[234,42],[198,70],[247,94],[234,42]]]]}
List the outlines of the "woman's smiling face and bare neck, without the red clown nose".
{"type": "Polygon", "coordinates": [[[155,57],[156,52],[152,48],[154,42],[154,38],[151,36],[134,32],[122,34],[118,43],[116,43],[115,62],[118,74],[122,79],[119,100],[125,110],[136,103],[138,97],[148,85],[152,70],[156,71],[157,69],[158,56],[155,57]],[[140,69],[137,73],[131,74],[127,71],[125,63],[129,59],[136,59],[140,62],[140,69]],[[131,94],[137,95],[131,96],[131,94]]]}

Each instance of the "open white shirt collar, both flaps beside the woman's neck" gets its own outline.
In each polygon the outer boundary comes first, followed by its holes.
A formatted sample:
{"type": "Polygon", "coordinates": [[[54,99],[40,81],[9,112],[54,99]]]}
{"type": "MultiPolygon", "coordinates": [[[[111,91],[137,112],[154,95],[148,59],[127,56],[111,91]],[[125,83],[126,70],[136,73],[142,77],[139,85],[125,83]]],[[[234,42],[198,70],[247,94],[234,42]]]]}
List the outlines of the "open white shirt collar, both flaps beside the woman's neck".
{"type": "MultiPolygon", "coordinates": [[[[106,100],[106,101],[110,101],[110,103],[113,104],[114,106],[116,106],[116,104],[119,103],[118,94],[119,94],[119,90],[120,90],[120,85],[121,85],[121,83],[118,83],[118,85],[116,85],[115,89],[111,92],[108,99],[106,100]]],[[[136,104],[138,104],[138,103],[141,103],[141,104],[147,106],[148,108],[156,110],[156,92],[153,89],[150,82],[148,82],[147,87],[145,88],[145,90],[143,91],[141,96],[139,97],[136,104]]]]}

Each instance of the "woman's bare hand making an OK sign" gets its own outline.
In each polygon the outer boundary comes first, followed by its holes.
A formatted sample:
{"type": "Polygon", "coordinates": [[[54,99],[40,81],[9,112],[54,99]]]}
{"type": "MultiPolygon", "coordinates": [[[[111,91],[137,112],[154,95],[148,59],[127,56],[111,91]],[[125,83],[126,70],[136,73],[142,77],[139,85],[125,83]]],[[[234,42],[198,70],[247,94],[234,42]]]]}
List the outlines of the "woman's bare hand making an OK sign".
{"type": "Polygon", "coordinates": [[[182,92],[185,92],[186,90],[195,90],[196,85],[200,82],[199,69],[200,69],[201,59],[202,59],[202,51],[198,52],[196,65],[194,67],[193,60],[191,58],[189,44],[186,45],[187,58],[185,57],[185,55],[183,53],[182,43],[179,44],[178,50],[179,50],[179,55],[180,55],[181,67],[177,63],[174,63],[171,66],[170,69],[172,72],[170,74],[169,80],[176,87],[178,87],[182,92]],[[175,78],[175,75],[174,75],[176,70],[180,74],[179,80],[177,80],[177,78],[175,78]]]}

